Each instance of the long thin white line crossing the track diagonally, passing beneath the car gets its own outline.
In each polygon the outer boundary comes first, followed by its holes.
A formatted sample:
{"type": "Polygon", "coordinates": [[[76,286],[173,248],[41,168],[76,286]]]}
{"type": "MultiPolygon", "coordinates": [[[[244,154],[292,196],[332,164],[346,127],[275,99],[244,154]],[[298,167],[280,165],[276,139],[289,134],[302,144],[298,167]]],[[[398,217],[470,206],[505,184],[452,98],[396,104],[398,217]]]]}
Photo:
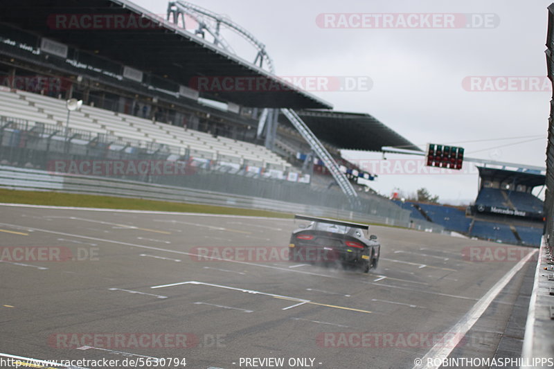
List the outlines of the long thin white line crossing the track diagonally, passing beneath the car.
{"type": "MultiPolygon", "coordinates": [[[[12,224],[0,223],[0,225],[11,226],[12,224]]],[[[33,229],[34,231],[44,232],[44,233],[51,233],[51,234],[54,234],[54,235],[64,235],[66,237],[78,237],[78,238],[83,238],[85,240],[93,240],[93,241],[98,241],[98,242],[108,242],[108,243],[111,243],[111,244],[121,244],[121,245],[125,245],[125,246],[137,247],[137,248],[140,248],[140,249],[163,251],[163,252],[166,252],[166,253],[177,253],[179,255],[189,255],[189,256],[193,256],[195,258],[198,258],[198,257],[202,256],[204,258],[210,258],[211,260],[220,260],[220,261],[224,261],[224,262],[235,262],[235,263],[238,263],[238,264],[245,264],[245,265],[250,265],[250,266],[253,266],[253,267],[275,269],[275,270],[278,270],[278,271],[289,271],[289,272],[292,272],[292,273],[305,274],[307,276],[315,276],[315,277],[319,277],[319,278],[332,278],[332,279],[337,279],[337,280],[348,280],[348,282],[352,282],[352,278],[343,278],[343,277],[339,277],[339,276],[330,276],[329,274],[315,273],[313,271],[303,271],[303,270],[298,270],[298,269],[274,267],[274,266],[271,266],[271,265],[268,265],[268,264],[256,264],[256,263],[253,263],[253,262],[243,262],[243,261],[240,261],[240,260],[216,258],[216,257],[213,257],[213,256],[212,257],[206,257],[205,255],[199,255],[197,253],[188,253],[186,251],[162,249],[161,247],[146,246],[146,245],[141,245],[141,244],[132,244],[130,242],[107,240],[105,238],[89,237],[89,236],[84,236],[84,235],[75,235],[73,233],[51,231],[51,230],[42,229],[42,228],[30,227],[30,229],[33,229]]],[[[391,279],[391,278],[389,278],[389,279],[391,279]]],[[[395,278],[395,280],[400,280],[402,282],[413,282],[411,280],[402,280],[402,279],[398,279],[398,278],[395,278]]],[[[407,288],[407,287],[399,287],[399,286],[394,286],[394,285],[384,285],[382,283],[368,282],[366,280],[361,280],[361,279],[357,279],[357,280],[355,280],[355,282],[364,283],[364,284],[368,284],[368,285],[376,285],[376,286],[381,286],[381,287],[388,287],[388,288],[405,289],[405,290],[408,290],[408,291],[418,291],[419,293],[422,293],[422,294],[435,294],[435,295],[439,295],[439,296],[447,296],[447,297],[452,297],[452,298],[462,298],[464,300],[477,300],[476,298],[470,298],[470,297],[465,297],[465,296],[456,296],[456,295],[450,295],[450,294],[440,294],[438,292],[427,291],[427,290],[422,290],[422,289],[414,290],[412,288],[407,288]]]]}

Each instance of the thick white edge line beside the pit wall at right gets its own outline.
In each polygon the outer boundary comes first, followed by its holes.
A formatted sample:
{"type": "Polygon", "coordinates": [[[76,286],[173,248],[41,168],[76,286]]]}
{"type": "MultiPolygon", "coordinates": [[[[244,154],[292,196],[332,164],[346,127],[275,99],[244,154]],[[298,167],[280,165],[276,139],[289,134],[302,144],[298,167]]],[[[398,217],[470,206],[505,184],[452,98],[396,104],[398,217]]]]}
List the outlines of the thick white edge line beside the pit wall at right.
{"type": "MultiPolygon", "coordinates": [[[[497,298],[497,296],[500,294],[500,292],[503,290],[506,285],[508,285],[508,282],[512,280],[512,278],[515,276],[515,274],[521,270],[521,268],[526,264],[526,262],[529,261],[529,259],[535,255],[537,252],[537,249],[533,250],[533,252],[528,253],[525,255],[524,258],[519,260],[517,264],[506,273],[500,280],[492,286],[492,288],[483,296],[477,303],[470,309],[469,312],[461,318],[458,323],[456,323],[452,328],[450,328],[449,332],[447,334],[452,334],[453,336],[465,336],[467,332],[473,327],[473,325],[481,318],[485,310],[489,307],[489,305],[492,303],[494,298],[497,298]]],[[[436,363],[443,362],[443,359],[446,359],[449,354],[454,350],[453,347],[447,347],[448,345],[444,345],[443,343],[436,343],[436,345],[425,354],[425,357],[422,357],[422,366],[414,366],[413,369],[438,369],[438,365],[436,363]],[[427,360],[427,359],[432,360],[427,360]]]]}

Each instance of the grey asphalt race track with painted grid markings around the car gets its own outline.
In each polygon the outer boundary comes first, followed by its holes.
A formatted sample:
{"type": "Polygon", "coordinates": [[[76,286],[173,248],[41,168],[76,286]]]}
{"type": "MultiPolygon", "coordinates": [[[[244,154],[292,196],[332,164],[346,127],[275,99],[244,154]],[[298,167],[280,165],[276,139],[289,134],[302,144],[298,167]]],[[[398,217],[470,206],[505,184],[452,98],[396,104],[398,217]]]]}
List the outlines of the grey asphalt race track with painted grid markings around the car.
{"type": "MultiPolygon", "coordinates": [[[[512,309],[524,309],[518,295],[534,262],[487,295],[520,258],[474,262],[463,256],[468,247],[499,245],[446,235],[372,226],[382,255],[368,274],[270,253],[197,257],[217,255],[213,246],[286,248],[294,228],[286,219],[0,206],[3,250],[51,246],[82,259],[0,262],[0,352],[44,360],[184,357],[186,368],[270,368],[245,365],[270,357],[284,359],[274,368],[413,368],[434,345],[410,333],[444,334],[475,318],[452,354],[494,357],[512,309]],[[474,308],[485,295],[493,303],[474,308]],[[377,342],[359,347],[357,332],[377,342]],[[123,341],[101,339],[115,334],[123,341]],[[168,336],[133,341],[141,334],[168,336]],[[179,346],[183,337],[189,347],[179,346]],[[305,361],[289,366],[296,358],[305,361]]],[[[510,252],[519,249],[528,250],[510,252]]],[[[431,353],[451,354],[440,350],[449,344],[431,353]]]]}

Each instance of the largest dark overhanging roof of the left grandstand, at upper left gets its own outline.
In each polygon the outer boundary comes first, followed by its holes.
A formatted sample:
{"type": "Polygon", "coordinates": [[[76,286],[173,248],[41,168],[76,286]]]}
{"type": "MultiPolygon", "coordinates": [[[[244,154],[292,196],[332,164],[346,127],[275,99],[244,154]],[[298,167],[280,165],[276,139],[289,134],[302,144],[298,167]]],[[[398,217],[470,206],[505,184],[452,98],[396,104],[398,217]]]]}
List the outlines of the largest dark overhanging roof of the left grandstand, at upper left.
{"type": "MultiPolygon", "coordinates": [[[[62,42],[154,75],[168,75],[184,86],[198,77],[225,76],[266,78],[276,89],[267,91],[217,91],[201,93],[206,98],[235,102],[247,107],[288,107],[292,109],[330,109],[332,106],[301,91],[274,75],[228,53],[210,42],[188,33],[164,17],[129,0],[3,0],[2,19],[22,30],[62,42]],[[142,17],[156,25],[148,29],[60,27],[55,15],[125,15],[142,17]]],[[[236,89],[235,89],[236,90],[236,89]]]]}

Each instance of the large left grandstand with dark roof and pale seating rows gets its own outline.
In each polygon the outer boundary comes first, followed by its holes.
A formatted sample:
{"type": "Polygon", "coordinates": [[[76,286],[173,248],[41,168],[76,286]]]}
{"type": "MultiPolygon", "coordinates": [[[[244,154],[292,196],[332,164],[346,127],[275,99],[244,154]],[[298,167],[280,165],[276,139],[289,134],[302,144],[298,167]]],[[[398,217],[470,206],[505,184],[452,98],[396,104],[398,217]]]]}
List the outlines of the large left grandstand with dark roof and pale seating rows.
{"type": "Polygon", "coordinates": [[[181,161],[188,174],[197,175],[124,179],[348,208],[385,222],[407,222],[407,212],[367,186],[357,188],[363,201],[350,202],[333,186],[336,178],[314,156],[312,145],[282,114],[274,114],[274,143],[256,132],[267,108],[297,109],[356,185],[373,174],[343,160],[340,149],[412,145],[373,116],[330,111],[328,102],[261,65],[129,1],[60,0],[58,6],[64,14],[141,17],[155,25],[148,32],[70,31],[53,26],[55,13],[37,8],[33,0],[5,5],[10,17],[0,23],[1,165],[45,170],[49,162],[66,159],[181,161]],[[115,38],[121,41],[116,47],[109,42],[115,38]],[[206,76],[263,78],[276,89],[195,89],[195,80],[206,76]],[[71,113],[70,98],[83,101],[71,113]]]}

